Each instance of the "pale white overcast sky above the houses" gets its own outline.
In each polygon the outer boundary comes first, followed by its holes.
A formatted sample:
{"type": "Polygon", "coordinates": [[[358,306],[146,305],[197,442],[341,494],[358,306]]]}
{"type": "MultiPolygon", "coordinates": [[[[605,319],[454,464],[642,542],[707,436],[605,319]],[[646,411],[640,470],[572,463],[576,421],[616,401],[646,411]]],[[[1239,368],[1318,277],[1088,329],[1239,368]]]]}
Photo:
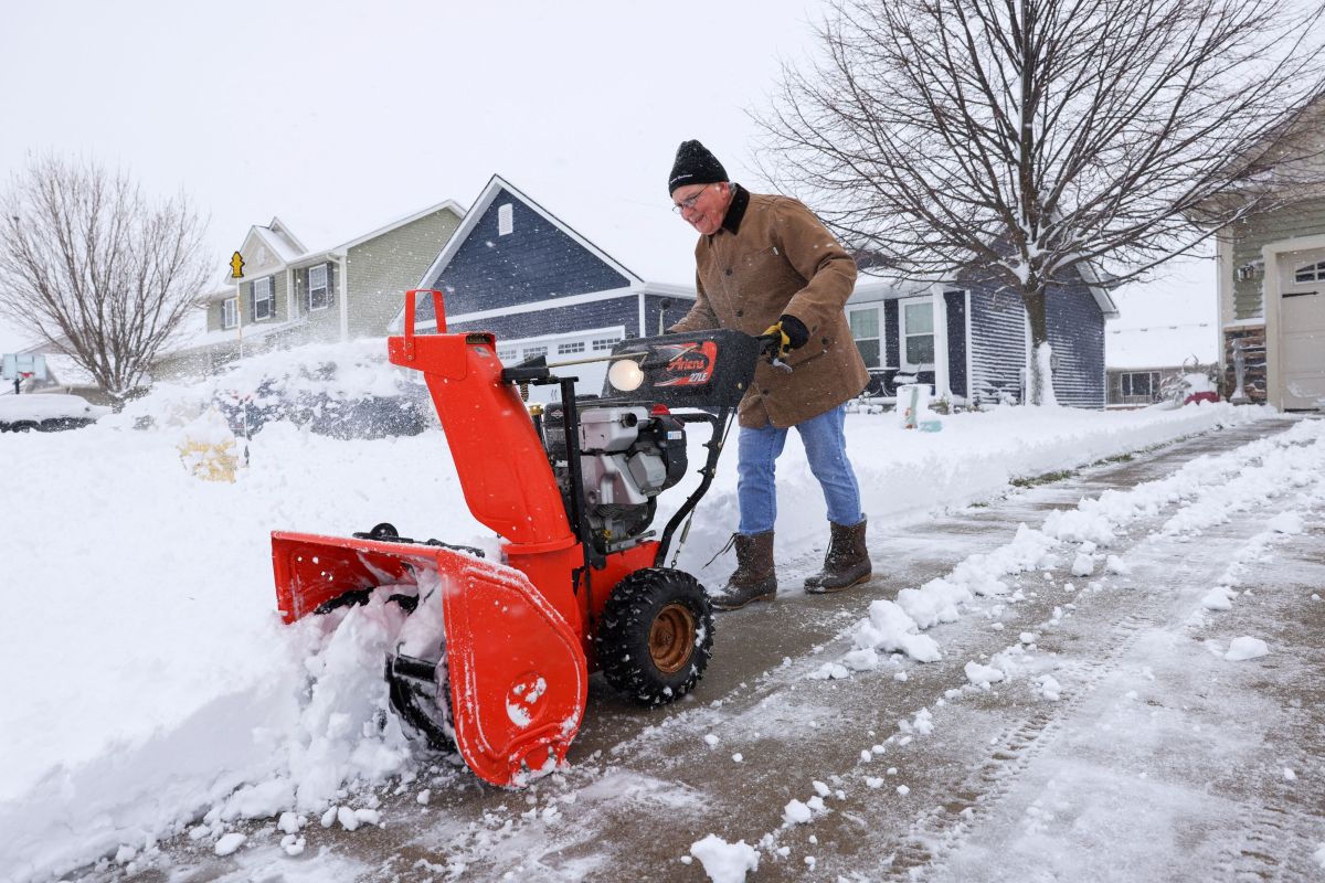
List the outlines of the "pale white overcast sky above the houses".
{"type": "MultiPolygon", "coordinates": [[[[217,274],[280,216],[330,248],[500,173],[625,266],[686,282],[666,214],[698,138],[759,189],[755,126],[820,0],[9,4],[0,169],[85,155],[211,217],[217,274]],[[632,266],[644,263],[643,269],[632,266]]],[[[657,278],[657,277],[668,278],[657,278]]],[[[1169,289],[1190,287],[1189,273],[1169,289]]],[[[1212,283],[1212,275],[1210,277],[1212,283]]],[[[1212,295],[1211,295],[1212,297],[1212,295]]],[[[1212,314],[1212,306],[1211,306],[1212,314]]],[[[1126,322],[1140,316],[1128,311],[1126,322]]],[[[1190,310],[1175,310],[1189,315],[1190,310]]],[[[0,352],[24,339],[0,326],[0,352]]]]}

